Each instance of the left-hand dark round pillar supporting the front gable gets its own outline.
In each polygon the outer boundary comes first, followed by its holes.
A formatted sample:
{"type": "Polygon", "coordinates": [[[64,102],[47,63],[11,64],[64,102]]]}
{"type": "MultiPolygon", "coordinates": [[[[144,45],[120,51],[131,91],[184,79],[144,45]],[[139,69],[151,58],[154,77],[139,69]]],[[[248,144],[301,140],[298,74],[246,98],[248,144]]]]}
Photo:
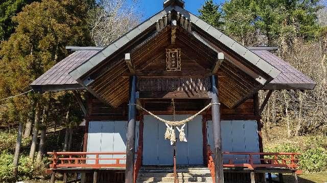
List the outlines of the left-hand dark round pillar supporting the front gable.
{"type": "Polygon", "coordinates": [[[125,183],[134,182],[134,154],[135,154],[135,108],[136,106],[136,76],[130,78],[130,98],[128,106],[128,126],[126,145],[125,183]]]}

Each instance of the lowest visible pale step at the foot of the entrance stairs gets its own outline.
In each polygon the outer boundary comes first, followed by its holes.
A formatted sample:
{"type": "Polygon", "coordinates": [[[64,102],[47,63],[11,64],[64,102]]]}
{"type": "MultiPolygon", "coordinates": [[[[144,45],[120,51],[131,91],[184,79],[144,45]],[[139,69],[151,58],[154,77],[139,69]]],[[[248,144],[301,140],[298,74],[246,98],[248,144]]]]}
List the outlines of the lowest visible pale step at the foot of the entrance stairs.
{"type": "MultiPolygon", "coordinates": [[[[141,182],[153,182],[153,181],[174,181],[174,177],[139,177],[137,181],[141,182]]],[[[213,181],[212,177],[178,177],[178,180],[181,181],[191,181],[191,182],[206,182],[213,181]]]]}

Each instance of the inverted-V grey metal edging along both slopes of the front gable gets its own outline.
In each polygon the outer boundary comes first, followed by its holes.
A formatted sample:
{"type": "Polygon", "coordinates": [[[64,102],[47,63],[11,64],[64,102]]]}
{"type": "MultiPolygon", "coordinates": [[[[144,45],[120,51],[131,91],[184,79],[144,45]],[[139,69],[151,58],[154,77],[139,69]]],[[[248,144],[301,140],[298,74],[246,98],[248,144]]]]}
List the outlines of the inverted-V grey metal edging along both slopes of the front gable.
{"type": "MultiPolygon", "coordinates": [[[[239,54],[241,57],[247,60],[248,63],[255,65],[260,70],[264,71],[267,75],[269,75],[272,79],[281,73],[281,71],[276,69],[274,66],[270,65],[268,62],[266,62],[266,60],[262,59],[261,57],[259,57],[251,50],[247,49],[246,47],[242,46],[235,40],[229,38],[215,27],[207,24],[197,16],[184,10],[182,7],[178,6],[178,4],[172,4],[172,5],[173,6],[168,6],[164,8],[164,10],[158,12],[148,20],[136,26],[130,32],[128,32],[127,34],[125,34],[124,36],[122,36],[121,38],[119,38],[118,40],[116,40],[106,48],[99,51],[96,55],[92,56],[85,63],[83,63],[82,65],[71,71],[69,74],[72,75],[74,79],[76,79],[83,85],[83,81],[81,81],[81,78],[83,76],[90,73],[93,68],[100,65],[107,57],[110,57],[114,52],[118,51],[119,49],[127,45],[131,40],[141,35],[149,27],[155,26],[156,22],[160,18],[167,16],[167,14],[169,14],[172,11],[179,12],[185,18],[188,18],[188,20],[192,22],[193,26],[202,29],[202,31],[206,32],[209,36],[213,37],[218,42],[222,43],[226,47],[235,51],[237,54],[239,54]]],[[[267,80],[261,81],[262,84],[266,84],[266,82],[267,80]]]]}

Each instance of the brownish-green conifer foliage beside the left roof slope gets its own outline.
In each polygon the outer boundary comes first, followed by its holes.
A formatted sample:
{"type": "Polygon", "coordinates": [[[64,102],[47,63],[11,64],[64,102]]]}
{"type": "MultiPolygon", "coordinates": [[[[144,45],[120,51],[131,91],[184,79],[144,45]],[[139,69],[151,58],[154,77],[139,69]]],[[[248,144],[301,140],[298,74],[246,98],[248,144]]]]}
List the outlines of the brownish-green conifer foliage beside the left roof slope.
{"type": "MultiPolygon", "coordinates": [[[[13,17],[15,33],[0,49],[1,98],[29,90],[30,83],[67,56],[66,45],[92,44],[87,24],[89,6],[89,0],[43,0],[25,6],[13,17]]],[[[10,123],[32,120],[37,99],[41,96],[30,94],[6,101],[4,117],[10,123]]],[[[50,99],[40,101],[44,106],[48,102],[50,99]]]]}

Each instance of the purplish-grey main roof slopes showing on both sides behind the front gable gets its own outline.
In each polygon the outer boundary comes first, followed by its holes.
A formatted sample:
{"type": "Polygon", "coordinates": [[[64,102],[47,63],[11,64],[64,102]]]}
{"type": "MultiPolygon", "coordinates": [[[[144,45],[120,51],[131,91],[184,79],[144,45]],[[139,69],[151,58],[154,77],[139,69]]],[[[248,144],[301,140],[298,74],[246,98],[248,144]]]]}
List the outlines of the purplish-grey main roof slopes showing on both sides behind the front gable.
{"type": "MultiPolygon", "coordinates": [[[[77,51],[61,60],[49,71],[45,72],[33,83],[31,83],[33,90],[38,92],[47,92],[56,90],[85,89],[84,86],[79,84],[69,75],[69,71],[77,68],[81,65],[81,63],[85,62],[85,60],[91,56],[94,56],[99,51],[88,51],[88,47],[72,47],[71,49],[77,51]],[[60,77],[68,79],[60,80],[60,77]]],[[[92,49],[94,50],[94,48],[92,49]]],[[[101,50],[102,48],[97,49],[101,50]]],[[[264,87],[264,89],[314,89],[316,83],[305,74],[296,70],[285,60],[279,58],[267,50],[263,50],[262,47],[249,47],[249,49],[282,71],[282,73],[270,81],[264,87]]]]}

